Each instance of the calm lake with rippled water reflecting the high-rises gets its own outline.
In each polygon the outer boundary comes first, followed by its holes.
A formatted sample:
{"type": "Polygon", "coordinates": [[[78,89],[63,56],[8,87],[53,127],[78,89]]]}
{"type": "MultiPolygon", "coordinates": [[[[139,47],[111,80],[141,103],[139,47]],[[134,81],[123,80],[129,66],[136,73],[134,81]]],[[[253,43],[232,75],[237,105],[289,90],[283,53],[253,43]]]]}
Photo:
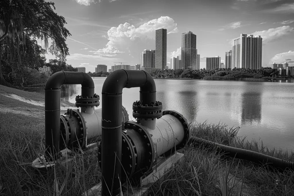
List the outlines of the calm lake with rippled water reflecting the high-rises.
{"type": "MultiPolygon", "coordinates": [[[[105,79],[93,79],[100,102],[105,79]]],[[[270,148],[294,150],[293,80],[154,80],[156,100],[162,102],[163,110],[175,110],[188,121],[240,126],[239,135],[247,135],[248,140],[254,138],[270,148]]],[[[30,91],[44,93],[44,88],[30,91]]],[[[77,95],[81,95],[81,85],[61,86],[61,100],[75,103],[77,95]]],[[[136,100],[139,100],[139,88],[123,89],[123,106],[132,119],[132,104],[136,100]]]]}

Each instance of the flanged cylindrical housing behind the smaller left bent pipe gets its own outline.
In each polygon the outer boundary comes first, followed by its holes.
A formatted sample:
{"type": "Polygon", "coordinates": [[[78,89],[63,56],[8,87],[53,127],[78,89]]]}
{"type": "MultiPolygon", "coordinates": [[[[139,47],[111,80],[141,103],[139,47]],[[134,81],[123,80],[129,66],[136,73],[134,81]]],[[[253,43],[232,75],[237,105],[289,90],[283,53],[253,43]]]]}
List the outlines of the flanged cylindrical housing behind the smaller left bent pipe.
{"type": "MultiPolygon", "coordinates": [[[[87,146],[87,140],[97,137],[101,140],[101,113],[102,108],[82,107],[78,110],[68,109],[68,112],[60,116],[60,150],[66,146],[69,148],[83,148],[87,146]],[[79,144],[78,144],[79,143],[79,144]]],[[[122,106],[122,121],[128,121],[128,112],[122,106]]]]}

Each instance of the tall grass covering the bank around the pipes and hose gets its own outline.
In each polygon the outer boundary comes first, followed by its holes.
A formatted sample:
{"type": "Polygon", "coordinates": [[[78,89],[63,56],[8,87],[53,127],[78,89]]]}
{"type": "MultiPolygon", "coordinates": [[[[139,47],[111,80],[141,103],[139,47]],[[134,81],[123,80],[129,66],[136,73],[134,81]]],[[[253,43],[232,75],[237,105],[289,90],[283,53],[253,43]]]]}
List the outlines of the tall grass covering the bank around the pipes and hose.
{"type": "MultiPolygon", "coordinates": [[[[35,95],[36,93],[19,92],[14,89],[6,89],[7,91],[20,93],[19,96],[27,98],[42,98],[35,95]]],[[[17,100],[9,100],[9,103],[23,104],[17,100]]],[[[268,155],[294,161],[294,156],[261,150],[257,143],[241,140],[236,135],[237,131],[238,129],[229,130],[224,125],[191,126],[192,136],[233,147],[262,151],[268,155]]],[[[31,169],[31,162],[39,153],[44,153],[44,118],[0,113],[0,135],[0,195],[14,195],[20,192],[24,195],[54,195],[56,187],[60,191],[67,173],[65,167],[59,165],[47,175],[39,175],[31,169]]],[[[226,185],[228,195],[294,193],[294,172],[270,172],[250,162],[225,158],[202,147],[186,147],[180,152],[185,154],[183,161],[168,172],[165,180],[156,182],[151,187],[155,195],[222,195],[220,176],[225,172],[226,163],[231,166],[226,185]]],[[[81,195],[84,190],[98,184],[100,179],[97,152],[76,155],[71,175],[61,195],[81,195]]]]}

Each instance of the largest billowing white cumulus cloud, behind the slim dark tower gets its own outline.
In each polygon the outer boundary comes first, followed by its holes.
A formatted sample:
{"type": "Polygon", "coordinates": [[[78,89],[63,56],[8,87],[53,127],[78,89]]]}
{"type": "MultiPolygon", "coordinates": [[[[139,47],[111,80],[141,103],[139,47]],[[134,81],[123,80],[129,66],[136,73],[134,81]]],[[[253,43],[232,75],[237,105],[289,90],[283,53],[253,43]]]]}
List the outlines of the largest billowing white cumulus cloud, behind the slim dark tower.
{"type": "Polygon", "coordinates": [[[156,29],[167,29],[167,33],[177,33],[178,28],[175,21],[169,16],[161,16],[158,19],[150,20],[137,28],[129,23],[111,27],[107,32],[108,43],[102,49],[93,51],[104,55],[124,53],[126,47],[131,48],[134,43],[144,44],[148,40],[155,39],[156,29]]]}

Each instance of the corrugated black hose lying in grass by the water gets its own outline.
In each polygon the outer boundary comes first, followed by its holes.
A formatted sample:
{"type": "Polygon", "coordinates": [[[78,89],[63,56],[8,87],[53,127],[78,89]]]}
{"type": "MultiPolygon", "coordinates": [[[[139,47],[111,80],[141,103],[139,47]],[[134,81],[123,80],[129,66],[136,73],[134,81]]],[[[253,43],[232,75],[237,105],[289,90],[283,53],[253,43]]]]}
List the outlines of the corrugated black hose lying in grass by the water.
{"type": "Polygon", "coordinates": [[[278,159],[275,157],[271,157],[268,155],[264,155],[262,153],[257,153],[251,150],[244,150],[240,148],[234,148],[222,144],[218,144],[215,142],[211,142],[208,140],[203,140],[201,138],[191,137],[189,142],[189,145],[192,145],[194,147],[204,145],[207,148],[217,148],[222,153],[225,153],[226,155],[230,157],[235,157],[238,159],[248,160],[252,161],[254,163],[262,164],[262,165],[268,165],[270,167],[274,167],[278,170],[285,170],[286,168],[289,168],[290,170],[294,170],[294,163],[282,159],[278,159]]]}

